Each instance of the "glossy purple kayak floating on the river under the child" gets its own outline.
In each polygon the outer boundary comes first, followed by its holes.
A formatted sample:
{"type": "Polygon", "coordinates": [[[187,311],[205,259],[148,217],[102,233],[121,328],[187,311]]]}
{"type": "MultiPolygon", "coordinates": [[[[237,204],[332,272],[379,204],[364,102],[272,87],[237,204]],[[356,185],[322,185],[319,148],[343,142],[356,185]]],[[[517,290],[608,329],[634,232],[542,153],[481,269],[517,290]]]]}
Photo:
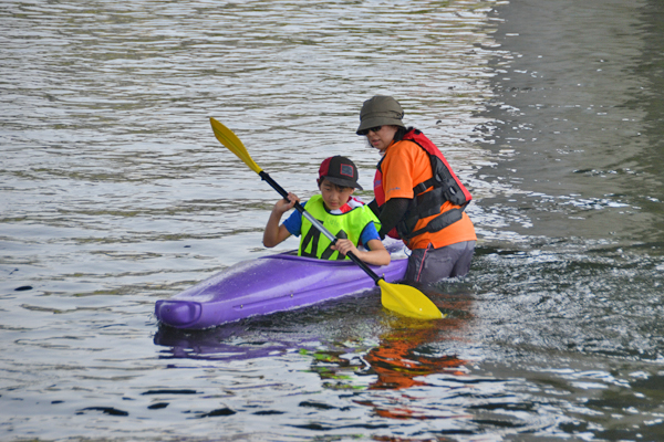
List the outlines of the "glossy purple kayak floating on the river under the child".
{"type": "MultiPolygon", "coordinates": [[[[387,249],[393,253],[392,262],[370,267],[391,283],[403,278],[407,260],[394,256],[397,248],[387,249]]],[[[352,261],[281,253],[240,262],[170,299],[157,301],[155,315],[162,324],[175,328],[210,328],[373,287],[373,280],[352,261]]]]}

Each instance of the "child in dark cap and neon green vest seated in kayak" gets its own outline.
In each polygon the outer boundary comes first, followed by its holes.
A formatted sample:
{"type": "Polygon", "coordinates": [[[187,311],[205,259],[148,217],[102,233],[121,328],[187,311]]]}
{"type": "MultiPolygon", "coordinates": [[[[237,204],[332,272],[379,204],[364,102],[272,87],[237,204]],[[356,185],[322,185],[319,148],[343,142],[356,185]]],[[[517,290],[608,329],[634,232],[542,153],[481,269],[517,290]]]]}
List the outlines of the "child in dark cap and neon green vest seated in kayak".
{"type": "Polygon", "coordinates": [[[357,183],[357,167],[345,157],[325,159],[319,169],[318,186],[320,194],[311,197],[303,206],[309,213],[321,221],[338,240],[331,241],[302,217],[293,212],[281,225],[281,217],[293,208],[300,199],[294,193],[288,200],[277,201],[263,232],[263,245],[273,248],[291,234],[300,238],[298,255],[321,260],[343,260],[352,252],[367,264],[390,264],[390,252],[378,235],[377,218],[369,206],[353,198],[355,189],[362,190],[357,183]],[[357,249],[362,244],[363,249],[357,249]]]}

